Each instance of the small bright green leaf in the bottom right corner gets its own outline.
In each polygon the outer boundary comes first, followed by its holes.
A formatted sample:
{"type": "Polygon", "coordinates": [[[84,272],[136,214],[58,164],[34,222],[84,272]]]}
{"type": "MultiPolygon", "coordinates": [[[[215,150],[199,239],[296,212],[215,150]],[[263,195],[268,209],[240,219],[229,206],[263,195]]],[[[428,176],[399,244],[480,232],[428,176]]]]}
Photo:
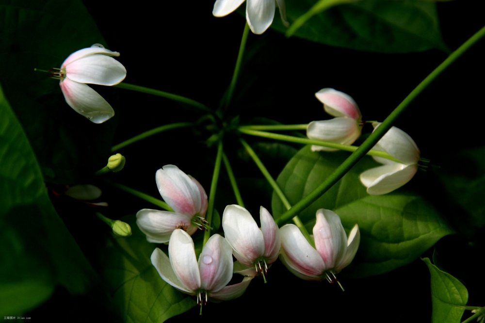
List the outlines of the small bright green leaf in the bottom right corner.
{"type": "Polygon", "coordinates": [[[460,323],[468,302],[468,291],[452,275],[439,270],[429,258],[422,259],[431,274],[432,323],[460,323]]]}

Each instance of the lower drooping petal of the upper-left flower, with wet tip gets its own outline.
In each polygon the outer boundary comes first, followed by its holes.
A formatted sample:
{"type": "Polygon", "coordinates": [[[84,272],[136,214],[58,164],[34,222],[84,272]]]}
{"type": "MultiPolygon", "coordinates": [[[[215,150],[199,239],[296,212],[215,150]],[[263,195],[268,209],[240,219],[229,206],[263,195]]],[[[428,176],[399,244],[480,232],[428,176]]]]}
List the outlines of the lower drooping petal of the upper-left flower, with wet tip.
{"type": "Polygon", "coordinates": [[[59,85],[67,104],[92,122],[103,123],[114,115],[111,105],[88,85],[68,78],[60,81],[59,85]]]}

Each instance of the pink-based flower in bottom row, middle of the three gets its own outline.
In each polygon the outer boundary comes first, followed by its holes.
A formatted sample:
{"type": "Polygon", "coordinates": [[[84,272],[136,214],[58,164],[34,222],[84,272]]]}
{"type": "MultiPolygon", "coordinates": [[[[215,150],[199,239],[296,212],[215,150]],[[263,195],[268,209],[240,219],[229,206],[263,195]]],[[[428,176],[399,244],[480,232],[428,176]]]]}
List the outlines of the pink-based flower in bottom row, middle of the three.
{"type": "Polygon", "coordinates": [[[222,227],[234,257],[263,274],[278,258],[281,240],[278,226],[268,210],[261,207],[259,219],[260,229],[246,209],[228,205],[222,216],[222,227]]]}

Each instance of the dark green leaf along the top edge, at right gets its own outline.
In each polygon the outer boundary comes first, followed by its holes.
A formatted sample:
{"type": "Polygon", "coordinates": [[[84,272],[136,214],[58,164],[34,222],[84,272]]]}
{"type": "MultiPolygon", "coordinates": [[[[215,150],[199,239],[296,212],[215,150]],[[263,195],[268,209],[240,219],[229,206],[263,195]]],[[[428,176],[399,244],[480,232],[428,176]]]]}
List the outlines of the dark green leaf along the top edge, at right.
{"type": "Polygon", "coordinates": [[[441,38],[434,2],[287,1],[287,16],[291,23],[289,29],[283,26],[278,17],[275,17],[271,27],[326,45],[383,53],[406,53],[431,48],[449,51],[441,38]],[[352,3],[327,9],[341,2],[352,3]]]}

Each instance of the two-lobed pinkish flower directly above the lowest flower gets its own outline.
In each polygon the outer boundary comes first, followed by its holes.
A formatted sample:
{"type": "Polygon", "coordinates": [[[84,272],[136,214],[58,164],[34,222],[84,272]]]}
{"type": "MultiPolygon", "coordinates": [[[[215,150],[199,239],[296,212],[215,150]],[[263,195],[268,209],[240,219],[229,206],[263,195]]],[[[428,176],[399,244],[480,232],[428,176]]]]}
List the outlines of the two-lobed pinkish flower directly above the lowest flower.
{"type": "Polygon", "coordinates": [[[200,183],[175,165],[165,165],[155,175],[163,200],[174,210],[143,209],[136,213],[136,224],[149,242],[168,242],[175,229],[189,235],[207,225],[207,194],[200,183]]]}

